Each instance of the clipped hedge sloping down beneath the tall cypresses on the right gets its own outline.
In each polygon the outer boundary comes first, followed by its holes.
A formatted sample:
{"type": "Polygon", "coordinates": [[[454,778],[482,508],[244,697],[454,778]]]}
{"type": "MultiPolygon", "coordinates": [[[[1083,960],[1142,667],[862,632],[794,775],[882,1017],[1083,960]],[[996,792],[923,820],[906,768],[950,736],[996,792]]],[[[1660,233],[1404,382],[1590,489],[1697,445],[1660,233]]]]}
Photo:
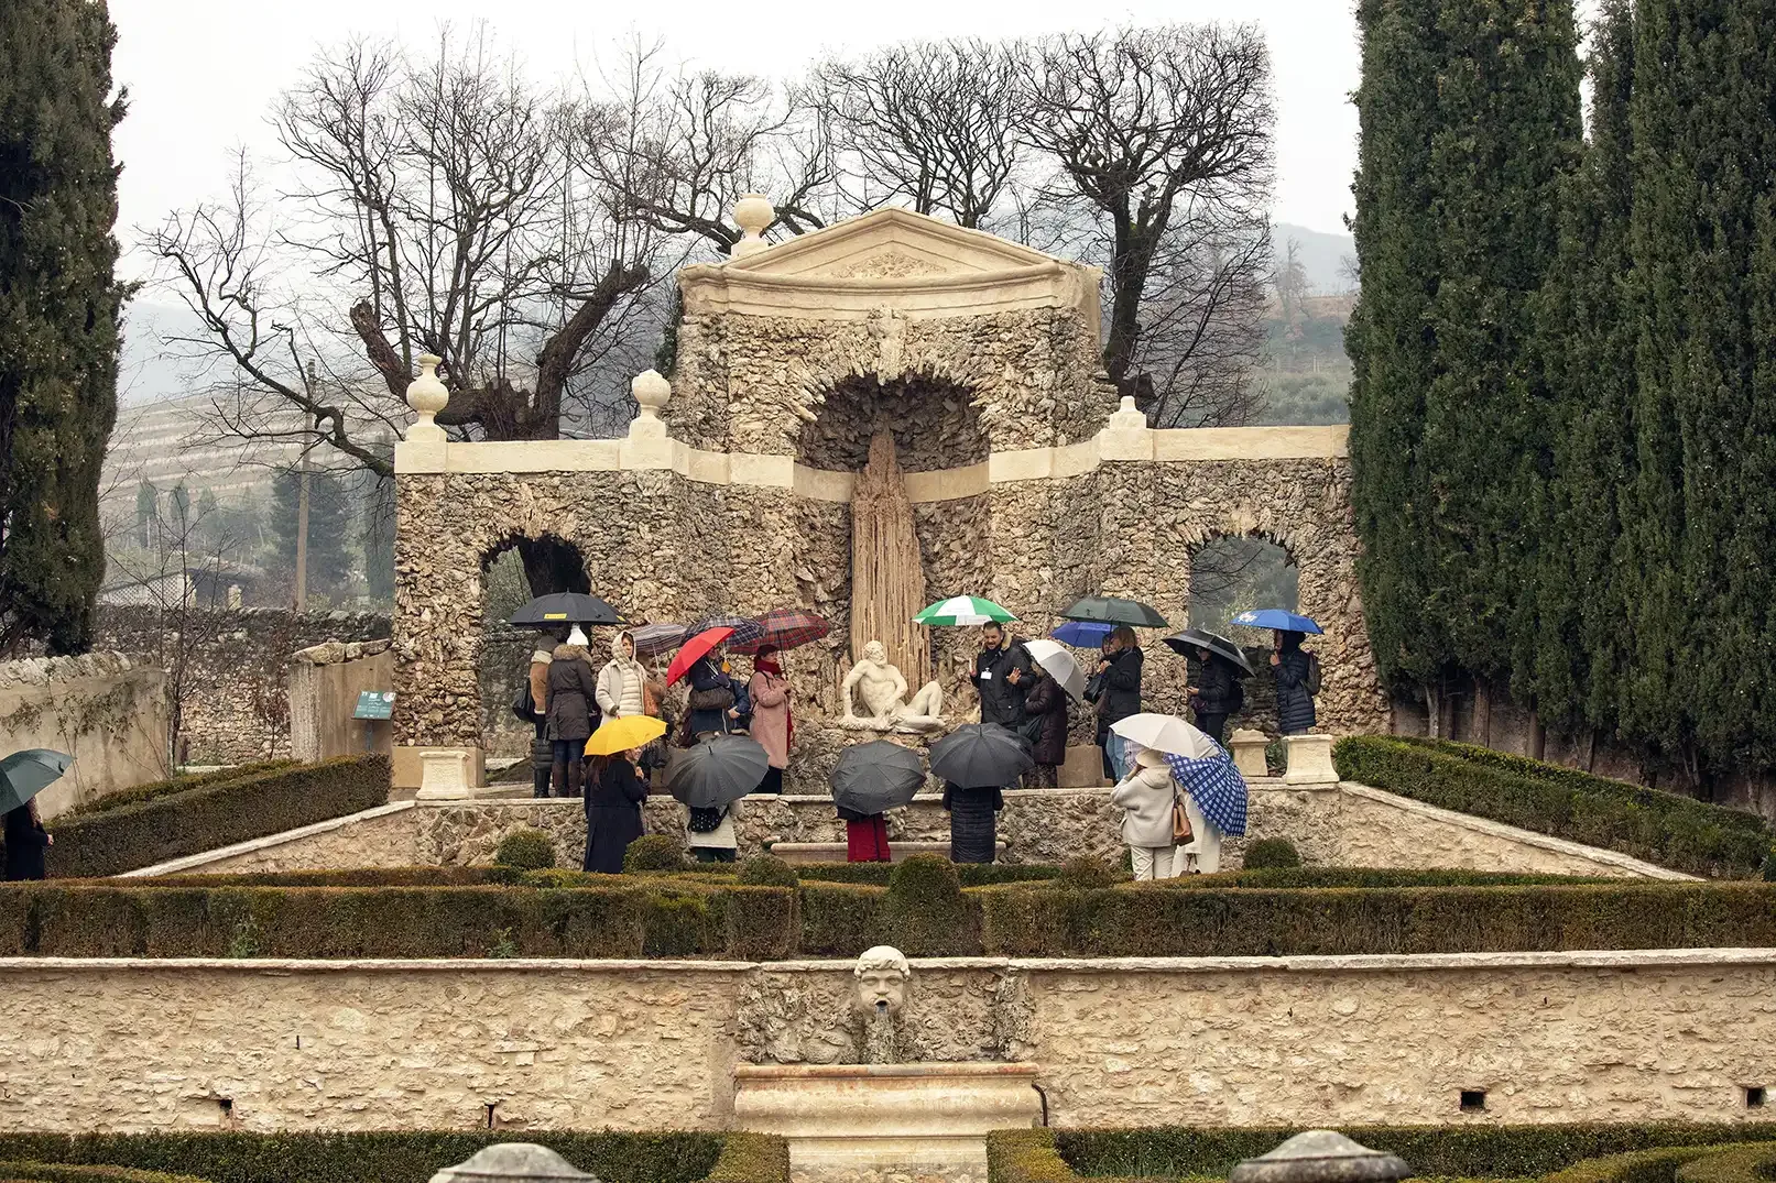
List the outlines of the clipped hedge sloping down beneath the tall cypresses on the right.
{"type": "Polygon", "coordinates": [[[1410,735],[1346,735],[1343,780],[1717,879],[1760,874],[1776,830],[1756,814],[1558,764],[1410,735]]]}

